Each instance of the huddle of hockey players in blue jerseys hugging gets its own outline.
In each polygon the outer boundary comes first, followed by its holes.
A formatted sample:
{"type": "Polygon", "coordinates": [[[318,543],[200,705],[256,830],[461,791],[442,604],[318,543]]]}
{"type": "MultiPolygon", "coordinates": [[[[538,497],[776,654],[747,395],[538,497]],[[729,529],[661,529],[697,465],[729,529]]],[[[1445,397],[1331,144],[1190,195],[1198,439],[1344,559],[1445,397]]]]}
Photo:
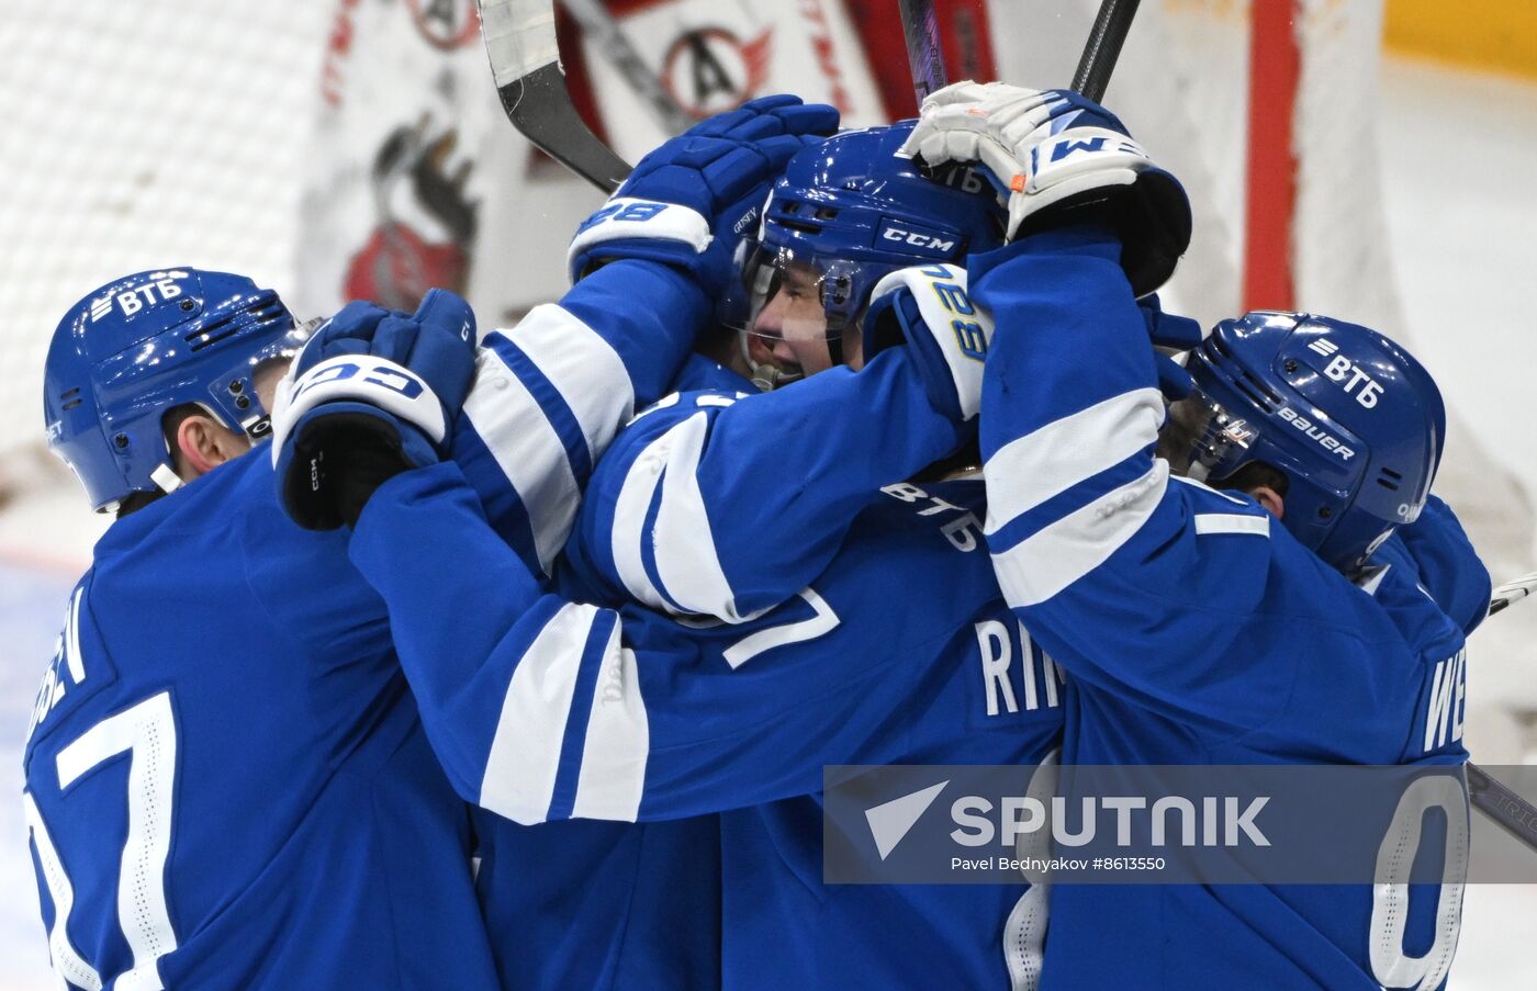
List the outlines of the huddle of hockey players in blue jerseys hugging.
{"type": "Polygon", "coordinates": [[[1465,761],[1432,379],[1316,315],[1202,340],[1153,295],[1190,232],[1104,108],[958,83],[669,140],[512,329],[89,293],[48,433],[117,519],[25,750],[55,974],[1440,986],[1459,885],[822,882],[824,765],[1465,761]]]}

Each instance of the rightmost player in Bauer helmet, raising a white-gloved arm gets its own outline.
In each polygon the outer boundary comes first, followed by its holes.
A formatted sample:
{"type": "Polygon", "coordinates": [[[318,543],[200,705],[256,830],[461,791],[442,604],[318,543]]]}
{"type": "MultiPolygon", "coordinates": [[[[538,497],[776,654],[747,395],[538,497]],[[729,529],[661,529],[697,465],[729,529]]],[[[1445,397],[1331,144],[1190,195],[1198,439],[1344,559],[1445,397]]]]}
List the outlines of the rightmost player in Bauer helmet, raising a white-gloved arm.
{"type": "MultiPolygon", "coordinates": [[[[910,149],[981,158],[1028,215],[1077,164],[1054,134],[1074,109],[958,86],[925,103],[910,149]]],[[[998,323],[988,549],[1068,673],[1064,762],[1465,761],[1463,636],[1488,575],[1428,502],[1445,436],[1431,376],[1365,327],[1251,313],[1194,352],[1196,389],[1165,419],[1117,254],[1090,223],[970,266],[998,323]],[[1414,553],[1454,615],[1417,587],[1414,553]]],[[[1423,894],[1056,885],[1042,986],[1437,988],[1460,885],[1423,894]]]]}

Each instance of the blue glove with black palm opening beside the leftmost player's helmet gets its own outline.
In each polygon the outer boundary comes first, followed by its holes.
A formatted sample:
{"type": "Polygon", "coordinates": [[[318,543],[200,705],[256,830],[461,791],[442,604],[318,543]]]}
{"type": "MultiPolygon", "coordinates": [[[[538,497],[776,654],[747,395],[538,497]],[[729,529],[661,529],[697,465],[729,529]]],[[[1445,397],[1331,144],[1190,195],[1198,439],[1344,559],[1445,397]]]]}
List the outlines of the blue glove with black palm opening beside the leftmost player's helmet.
{"type": "Polygon", "coordinates": [[[354,525],[373,490],[435,464],[475,376],[475,313],[432,289],[407,317],[349,303],[278,386],[272,459],[283,509],[306,530],[354,525]]]}

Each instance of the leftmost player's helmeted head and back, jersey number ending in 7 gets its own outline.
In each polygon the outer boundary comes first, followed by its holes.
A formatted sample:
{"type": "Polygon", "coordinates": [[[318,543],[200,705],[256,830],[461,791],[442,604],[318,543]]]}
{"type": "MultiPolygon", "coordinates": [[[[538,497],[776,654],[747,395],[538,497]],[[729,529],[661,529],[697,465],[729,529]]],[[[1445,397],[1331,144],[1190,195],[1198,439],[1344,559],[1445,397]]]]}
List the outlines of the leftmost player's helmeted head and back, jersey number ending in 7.
{"type": "Polygon", "coordinates": [[[54,336],[49,439],[118,513],[23,753],[61,986],[495,986],[469,820],[387,628],[354,621],[375,599],[244,456],[297,344],[277,293],[198,269],[103,286],[54,336]]]}

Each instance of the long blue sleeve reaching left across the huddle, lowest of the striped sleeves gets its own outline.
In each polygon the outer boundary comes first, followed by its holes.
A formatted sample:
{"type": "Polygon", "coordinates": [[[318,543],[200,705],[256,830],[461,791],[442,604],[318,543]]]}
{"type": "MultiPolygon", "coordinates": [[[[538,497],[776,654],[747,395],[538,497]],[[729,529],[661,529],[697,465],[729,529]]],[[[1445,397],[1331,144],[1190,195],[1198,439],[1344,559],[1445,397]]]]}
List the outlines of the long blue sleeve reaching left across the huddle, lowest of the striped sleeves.
{"type": "MultiPolygon", "coordinates": [[[[871,542],[830,585],[819,578],[750,628],[681,624],[541,593],[441,464],[381,487],[350,555],[389,605],[427,736],[467,800],[524,824],[635,820],[813,793],[824,764],[973,739],[984,710],[984,725],[1021,745],[1054,734],[1044,662],[1017,696],[1031,701],[1024,711],[976,676],[985,638],[967,621],[990,602],[1008,618],[987,559],[938,524],[922,536],[871,542]],[[899,595],[936,561],[962,558],[944,596],[899,595]],[[905,708],[913,699],[922,714],[905,708]]],[[[1007,625],[991,618],[985,628],[996,639],[1007,625]]],[[[1002,641],[985,642],[987,670],[1001,670],[1002,641]]]]}

